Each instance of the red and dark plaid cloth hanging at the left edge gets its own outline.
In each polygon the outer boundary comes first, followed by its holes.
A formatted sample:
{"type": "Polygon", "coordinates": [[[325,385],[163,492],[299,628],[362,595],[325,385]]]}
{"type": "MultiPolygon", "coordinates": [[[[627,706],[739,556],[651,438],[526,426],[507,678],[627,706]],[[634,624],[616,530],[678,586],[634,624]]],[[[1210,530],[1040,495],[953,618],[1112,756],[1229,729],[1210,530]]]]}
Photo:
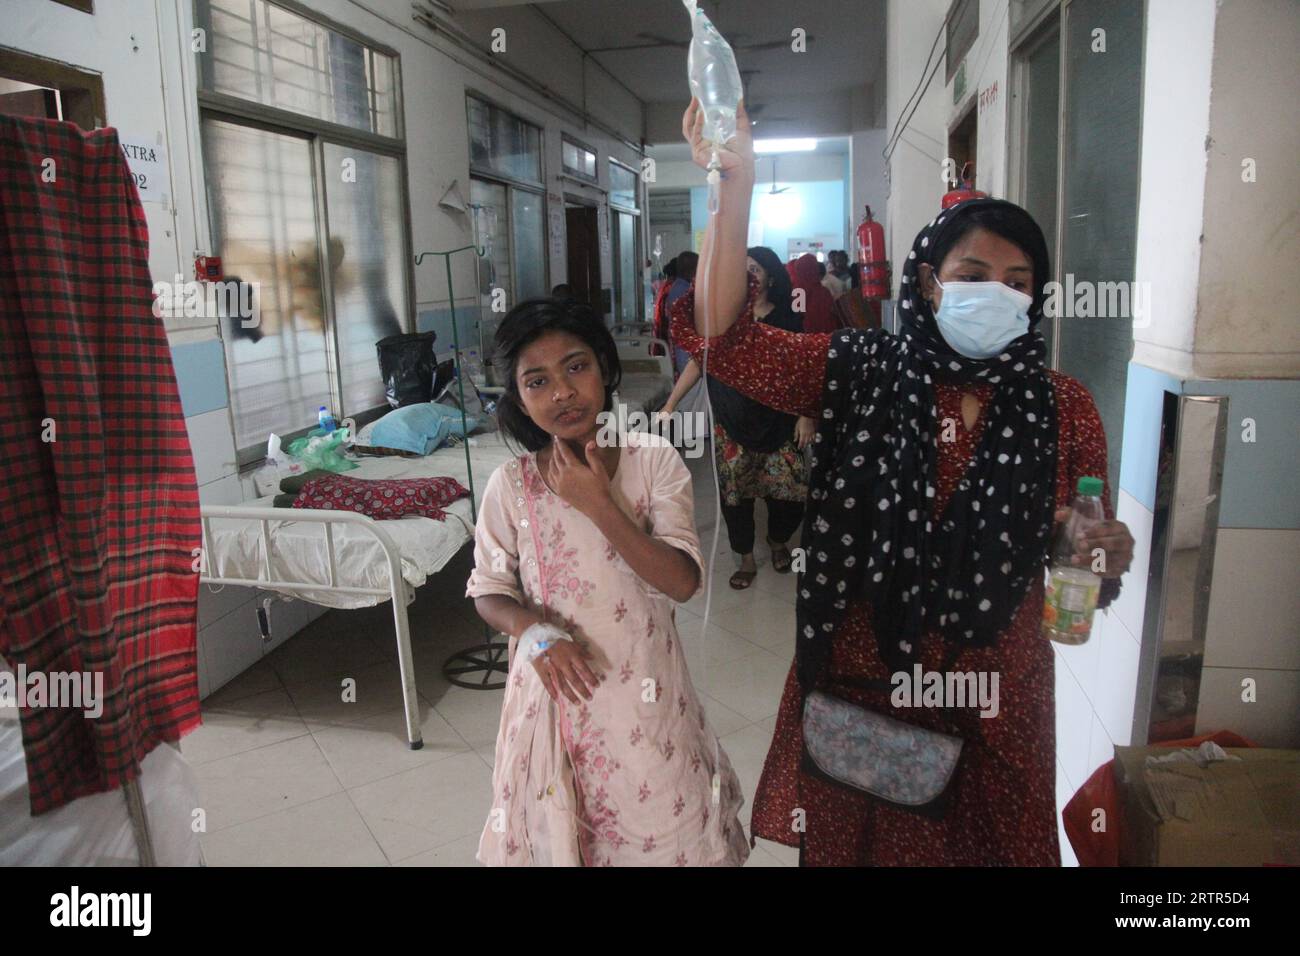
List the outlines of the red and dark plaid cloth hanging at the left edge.
{"type": "Polygon", "coordinates": [[[116,130],[0,116],[0,654],[104,689],[98,718],[23,708],[34,814],[199,723],[199,496],[152,300],[116,130]]]}

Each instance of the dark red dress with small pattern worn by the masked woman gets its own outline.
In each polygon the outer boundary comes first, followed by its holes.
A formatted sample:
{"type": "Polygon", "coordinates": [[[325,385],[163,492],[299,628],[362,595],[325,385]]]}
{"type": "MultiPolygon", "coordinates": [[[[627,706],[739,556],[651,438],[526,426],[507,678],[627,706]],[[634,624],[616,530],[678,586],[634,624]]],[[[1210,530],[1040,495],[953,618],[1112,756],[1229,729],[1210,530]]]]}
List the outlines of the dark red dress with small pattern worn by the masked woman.
{"type": "MultiPolygon", "coordinates": [[[[694,329],[694,290],[673,308],[673,339],[696,356],[705,346],[694,329]]],[[[725,334],[708,342],[708,372],[774,408],[818,418],[829,342],[829,334],[798,336],[755,323],[751,300],[725,334]]],[[[1053,371],[1050,376],[1060,423],[1054,494],[1063,507],[1080,476],[1105,477],[1106,440],[1088,390],[1067,375],[1053,371]]],[[[935,385],[936,514],[975,455],[991,394],[988,385],[935,385]],[[962,423],[963,393],[980,399],[980,415],[970,431],[962,423]],[[946,427],[945,419],[952,419],[946,427]],[[945,432],[950,441],[942,441],[945,432]]],[[[1110,518],[1109,488],[1102,501],[1110,518]]],[[[1104,589],[1101,604],[1113,596],[1113,587],[1104,589]]],[[[961,671],[998,672],[1000,711],[982,718],[974,708],[896,709],[888,692],[846,685],[845,680],[889,678],[871,609],[850,602],[832,637],[826,689],[896,719],[959,735],[966,743],[952,801],[941,819],[930,819],[803,773],[802,695],[792,665],[754,796],[753,836],[797,847],[802,823],[802,864],[810,866],[1058,866],[1054,654],[1039,633],[1041,618],[1043,583],[1037,581],[996,644],[970,648],[952,663],[961,671]]],[[[941,670],[945,653],[944,641],[928,633],[922,648],[924,670],[941,670]]]]}

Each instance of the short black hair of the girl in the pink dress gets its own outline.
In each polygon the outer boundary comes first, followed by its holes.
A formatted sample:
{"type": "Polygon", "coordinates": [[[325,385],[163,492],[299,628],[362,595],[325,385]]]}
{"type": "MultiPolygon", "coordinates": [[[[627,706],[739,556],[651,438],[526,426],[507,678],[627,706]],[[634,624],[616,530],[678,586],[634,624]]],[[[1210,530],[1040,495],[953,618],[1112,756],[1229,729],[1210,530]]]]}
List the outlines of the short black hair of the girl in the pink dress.
{"type": "Polygon", "coordinates": [[[582,339],[595,352],[604,375],[602,411],[611,410],[614,390],[623,380],[619,347],[590,306],[571,299],[528,299],[510,310],[497,326],[493,359],[506,386],[506,393],[497,403],[497,421],[508,438],[528,451],[537,451],[550,445],[551,436],[524,411],[524,402],[519,397],[519,382],[515,381],[515,368],[519,364],[519,354],[547,332],[567,332],[582,339]]]}

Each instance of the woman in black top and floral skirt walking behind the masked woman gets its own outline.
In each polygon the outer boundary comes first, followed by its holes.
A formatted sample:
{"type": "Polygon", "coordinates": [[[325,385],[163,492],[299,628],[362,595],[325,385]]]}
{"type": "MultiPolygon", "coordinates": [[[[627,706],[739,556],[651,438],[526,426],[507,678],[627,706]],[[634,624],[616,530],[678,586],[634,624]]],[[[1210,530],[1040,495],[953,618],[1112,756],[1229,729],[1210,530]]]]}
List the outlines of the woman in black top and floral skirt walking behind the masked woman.
{"type": "MultiPolygon", "coordinates": [[[[749,250],[748,268],[763,294],[754,315],[766,325],[786,332],[802,332],[802,316],[790,310],[790,281],[780,258],[767,246],[749,250]]],[[[659,414],[668,416],[692,388],[697,388],[699,363],[686,363],[677,385],[659,414]]],[[[745,591],[758,575],[754,562],[754,498],[767,502],[767,544],[772,549],[772,570],[790,570],[790,537],[803,520],[807,497],[807,463],[802,449],[812,441],[815,423],[809,418],[784,415],[729,385],[708,376],[708,399],[714,407],[714,457],[718,462],[718,490],[723,501],[727,538],[740,558],[731,587],[745,591]]]]}

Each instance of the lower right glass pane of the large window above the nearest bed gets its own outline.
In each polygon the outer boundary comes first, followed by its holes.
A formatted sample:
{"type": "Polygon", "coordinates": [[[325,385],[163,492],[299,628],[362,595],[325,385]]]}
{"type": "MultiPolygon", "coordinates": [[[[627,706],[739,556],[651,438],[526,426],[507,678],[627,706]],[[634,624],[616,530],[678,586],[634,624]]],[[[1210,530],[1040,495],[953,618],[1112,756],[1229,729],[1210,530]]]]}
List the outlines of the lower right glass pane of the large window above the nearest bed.
{"type": "Polygon", "coordinates": [[[325,207],[343,415],[386,403],[374,343],[404,330],[407,250],[402,164],[394,156],[325,143],[325,207]],[[355,177],[339,170],[355,163],[355,177]]]}

